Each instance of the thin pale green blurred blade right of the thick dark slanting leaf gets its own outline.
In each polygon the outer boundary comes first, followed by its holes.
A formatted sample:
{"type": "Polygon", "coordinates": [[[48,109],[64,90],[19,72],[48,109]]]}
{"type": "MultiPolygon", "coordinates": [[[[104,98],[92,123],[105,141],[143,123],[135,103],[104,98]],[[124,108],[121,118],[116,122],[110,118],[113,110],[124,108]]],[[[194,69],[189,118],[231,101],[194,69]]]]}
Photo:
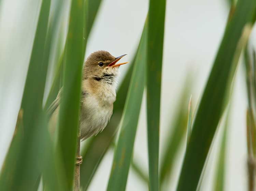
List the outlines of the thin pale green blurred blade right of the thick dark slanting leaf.
{"type": "Polygon", "coordinates": [[[226,147],[227,147],[227,132],[229,126],[229,112],[228,111],[225,124],[224,131],[221,139],[221,148],[218,155],[218,161],[216,165],[216,173],[215,173],[215,181],[214,181],[214,191],[223,191],[224,183],[225,183],[225,160],[226,160],[226,147]]]}

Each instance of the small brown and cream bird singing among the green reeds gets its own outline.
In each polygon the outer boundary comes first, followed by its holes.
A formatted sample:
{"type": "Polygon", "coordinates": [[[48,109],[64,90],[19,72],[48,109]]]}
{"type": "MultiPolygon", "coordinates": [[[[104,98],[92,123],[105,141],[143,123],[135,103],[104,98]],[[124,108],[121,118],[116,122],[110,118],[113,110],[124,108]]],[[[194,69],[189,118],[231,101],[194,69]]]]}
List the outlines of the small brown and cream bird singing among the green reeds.
{"type": "MultiPolygon", "coordinates": [[[[90,136],[102,132],[108,124],[116,100],[117,77],[119,66],[128,62],[117,63],[126,54],[112,56],[105,50],[90,54],[83,65],[81,82],[80,139],[84,141],[90,136]]],[[[49,131],[56,132],[62,88],[57,98],[47,109],[49,131]]]]}

